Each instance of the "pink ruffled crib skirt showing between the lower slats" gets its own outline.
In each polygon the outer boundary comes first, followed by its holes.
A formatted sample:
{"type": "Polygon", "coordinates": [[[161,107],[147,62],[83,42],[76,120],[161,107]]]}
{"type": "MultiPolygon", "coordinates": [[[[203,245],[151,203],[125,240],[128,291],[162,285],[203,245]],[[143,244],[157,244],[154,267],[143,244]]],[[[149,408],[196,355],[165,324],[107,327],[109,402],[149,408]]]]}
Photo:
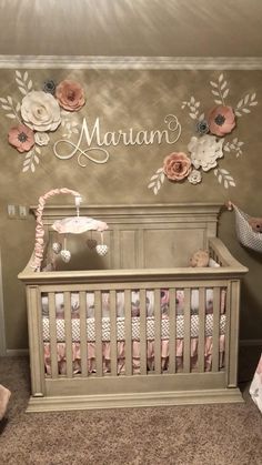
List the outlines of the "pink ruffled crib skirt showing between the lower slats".
{"type": "MultiPolygon", "coordinates": [[[[191,368],[198,366],[198,337],[191,338],[191,368]]],[[[95,372],[95,343],[88,342],[88,358],[87,358],[87,368],[89,373],[95,372]]],[[[182,338],[177,340],[177,350],[175,350],[175,364],[177,370],[182,368],[183,366],[183,345],[184,341],[182,338]]],[[[102,343],[102,361],[103,361],[103,372],[110,372],[110,343],[102,343]]],[[[124,373],[125,363],[124,363],[124,342],[118,342],[118,373],[124,373]]],[[[213,338],[212,336],[205,337],[204,344],[204,370],[208,372],[212,366],[212,350],[213,350],[213,338]]],[[[223,366],[223,354],[224,354],[224,335],[220,336],[220,367],[223,366]]],[[[57,344],[57,357],[58,357],[58,368],[59,374],[67,374],[67,356],[66,356],[66,343],[57,344]]],[[[147,344],[147,361],[148,370],[154,370],[154,341],[148,341],[147,344]]],[[[80,343],[72,343],[72,363],[73,363],[73,373],[81,373],[81,352],[80,343]]],[[[169,366],[169,341],[162,341],[161,343],[161,364],[162,370],[168,370],[169,366]]],[[[51,350],[50,343],[44,343],[44,365],[48,375],[51,375],[51,350]]],[[[140,373],[140,342],[132,342],[132,366],[133,373],[140,373]]]]}

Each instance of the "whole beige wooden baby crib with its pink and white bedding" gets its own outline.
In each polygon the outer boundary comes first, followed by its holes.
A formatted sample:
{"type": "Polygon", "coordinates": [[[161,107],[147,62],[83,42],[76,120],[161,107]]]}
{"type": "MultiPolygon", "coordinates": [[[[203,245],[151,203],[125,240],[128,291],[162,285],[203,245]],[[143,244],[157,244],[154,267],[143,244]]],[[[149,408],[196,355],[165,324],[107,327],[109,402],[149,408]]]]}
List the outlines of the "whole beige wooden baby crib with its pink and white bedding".
{"type": "MultiPolygon", "coordinates": [[[[57,271],[33,272],[30,260],[19,274],[27,289],[28,412],[242,402],[238,388],[240,280],[248,270],[216,236],[220,210],[219,204],[204,203],[83,206],[82,215],[108,223],[108,254],[99,257],[94,253],[98,233],[93,232],[68,239],[72,262],[58,263],[57,271]],[[190,256],[200,247],[209,249],[218,266],[190,266],[190,256]],[[183,296],[182,312],[178,291],[183,296]],[[192,312],[195,292],[198,305],[192,312]],[[212,292],[209,311],[208,292],[212,292]],[[139,295],[137,316],[132,313],[134,294],[139,295]],[[92,319],[87,315],[88,295],[92,319]],[[58,296],[63,307],[60,316],[58,296]],[[72,296],[78,299],[77,316],[72,296]],[[149,297],[153,301],[150,317],[149,297]]],[[[72,215],[73,206],[46,206],[49,243],[58,240],[51,231],[53,221],[72,215]]],[[[50,253],[48,245],[46,259],[50,253]]]]}

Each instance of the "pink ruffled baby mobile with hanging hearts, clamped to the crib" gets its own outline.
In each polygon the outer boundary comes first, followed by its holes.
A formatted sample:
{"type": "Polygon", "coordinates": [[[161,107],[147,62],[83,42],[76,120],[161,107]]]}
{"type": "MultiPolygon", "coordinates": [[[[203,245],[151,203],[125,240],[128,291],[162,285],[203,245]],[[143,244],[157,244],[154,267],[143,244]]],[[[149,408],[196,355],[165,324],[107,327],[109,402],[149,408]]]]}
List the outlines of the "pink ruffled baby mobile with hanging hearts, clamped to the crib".
{"type": "MultiPolygon", "coordinates": [[[[42,221],[43,209],[47,200],[57,194],[71,194],[74,196],[74,203],[77,208],[77,215],[64,218],[61,220],[54,221],[52,229],[63,236],[63,243],[53,242],[52,251],[54,254],[61,256],[63,262],[68,263],[71,259],[71,252],[67,249],[67,234],[81,234],[87,231],[99,231],[101,234],[101,244],[95,246],[95,251],[99,255],[103,256],[108,253],[108,245],[103,243],[103,232],[108,230],[108,224],[103,221],[94,220],[89,216],[80,216],[80,204],[82,198],[79,192],[72,191],[67,188],[53,189],[47,192],[44,195],[39,198],[38,209],[37,209],[37,225],[36,225],[36,242],[34,242],[34,254],[31,262],[31,266],[34,271],[41,270],[41,264],[43,260],[44,251],[44,226],[42,221]]],[[[50,264],[50,270],[56,267],[56,261],[52,261],[50,264]]],[[[48,271],[48,269],[46,269],[48,271]]]]}

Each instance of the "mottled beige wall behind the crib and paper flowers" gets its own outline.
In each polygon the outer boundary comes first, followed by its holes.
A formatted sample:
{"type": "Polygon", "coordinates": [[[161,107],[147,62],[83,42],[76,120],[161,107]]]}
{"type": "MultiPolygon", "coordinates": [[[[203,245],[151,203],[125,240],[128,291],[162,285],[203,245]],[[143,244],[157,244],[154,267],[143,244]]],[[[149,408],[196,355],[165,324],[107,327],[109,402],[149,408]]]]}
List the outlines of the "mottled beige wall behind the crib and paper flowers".
{"type": "MultiPolygon", "coordinates": [[[[24,72],[24,70],[22,71],[24,72]]],[[[188,143],[195,135],[194,121],[182,101],[194,95],[205,112],[214,105],[210,80],[218,81],[221,71],[145,71],[145,70],[30,70],[33,89],[40,90],[47,79],[56,82],[73,79],[82,83],[87,104],[73,119],[81,123],[83,117],[90,125],[100,118],[102,132],[142,129],[165,129],[163,119],[174,113],[182,125],[182,134],[174,145],[110,146],[107,164],[89,162],[87,168],[77,164],[75,156],[61,161],[53,154],[53,143],[61,138],[60,128],[50,134],[50,143],[41,150],[40,163],[36,172],[23,173],[24,154],[20,154],[8,143],[7,134],[13,120],[0,109],[0,231],[3,265],[3,297],[9,348],[27,346],[27,319],[24,290],[17,274],[29,260],[33,247],[34,221],[9,220],[7,204],[36,204],[39,195],[52,188],[68,186],[79,190],[87,204],[102,203],[171,203],[192,201],[225,202],[231,199],[253,215],[262,215],[261,208],[261,120],[262,101],[261,71],[225,71],[230,93],[226,103],[235,107],[244,94],[256,92],[258,107],[251,113],[238,119],[236,129],[225,140],[238,138],[244,142],[243,154],[239,158],[225,153],[219,165],[230,172],[235,188],[224,189],[219,184],[213,171],[203,175],[199,185],[189,182],[164,181],[158,195],[148,189],[152,174],[162,165],[165,155],[172,151],[188,152],[188,143]]],[[[20,101],[14,70],[0,71],[0,97],[12,97],[20,101]]],[[[73,137],[74,138],[74,137],[73,137]]],[[[72,140],[77,140],[73,139],[72,140]]],[[[75,137],[77,138],[77,137],[75,137]]],[[[63,199],[64,200],[64,199],[63,199]]],[[[61,202],[61,199],[58,199],[61,202]]],[[[234,215],[223,212],[219,235],[250,272],[242,289],[241,337],[260,338],[262,324],[261,265],[262,255],[240,246],[234,232],[234,215]]]]}

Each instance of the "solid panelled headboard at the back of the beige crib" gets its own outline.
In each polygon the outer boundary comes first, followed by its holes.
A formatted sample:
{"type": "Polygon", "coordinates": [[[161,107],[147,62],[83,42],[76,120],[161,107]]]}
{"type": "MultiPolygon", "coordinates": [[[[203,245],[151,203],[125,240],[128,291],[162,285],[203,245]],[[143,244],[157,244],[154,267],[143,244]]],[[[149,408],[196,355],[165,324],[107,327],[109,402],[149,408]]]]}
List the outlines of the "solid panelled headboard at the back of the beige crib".
{"type": "MultiPolygon", "coordinates": [[[[216,236],[221,204],[179,203],[154,205],[81,205],[80,214],[105,221],[104,243],[109,252],[101,257],[92,249],[100,242],[100,233],[87,232],[67,235],[67,247],[72,260],[60,270],[92,269],[159,269],[188,266],[198,249],[208,246],[208,239],[216,236]]],[[[31,210],[36,214],[37,208],[31,210]]],[[[47,242],[61,237],[51,229],[52,223],[74,216],[74,205],[46,205],[42,220],[47,242]]],[[[50,253],[50,247],[49,247],[50,253]]]]}

